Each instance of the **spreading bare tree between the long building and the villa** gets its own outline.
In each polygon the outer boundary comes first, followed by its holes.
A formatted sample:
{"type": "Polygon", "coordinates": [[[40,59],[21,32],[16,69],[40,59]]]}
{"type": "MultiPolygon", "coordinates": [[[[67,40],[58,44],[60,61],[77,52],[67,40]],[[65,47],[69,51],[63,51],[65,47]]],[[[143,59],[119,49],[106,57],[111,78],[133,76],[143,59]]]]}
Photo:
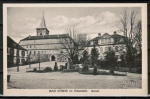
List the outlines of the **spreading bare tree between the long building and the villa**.
{"type": "Polygon", "coordinates": [[[64,56],[66,56],[70,63],[75,64],[76,59],[81,56],[86,43],[88,42],[87,34],[80,33],[75,28],[69,27],[66,30],[67,38],[60,38],[59,49],[64,49],[64,56]]]}

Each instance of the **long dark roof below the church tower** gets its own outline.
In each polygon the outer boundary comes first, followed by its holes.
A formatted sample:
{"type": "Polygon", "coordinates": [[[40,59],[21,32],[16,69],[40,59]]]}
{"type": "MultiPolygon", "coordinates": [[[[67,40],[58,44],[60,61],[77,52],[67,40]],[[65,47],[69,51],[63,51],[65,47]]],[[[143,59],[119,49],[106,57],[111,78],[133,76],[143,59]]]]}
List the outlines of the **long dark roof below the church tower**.
{"type": "Polygon", "coordinates": [[[28,36],[23,40],[37,40],[37,39],[58,39],[58,38],[69,38],[67,34],[59,34],[59,35],[42,35],[42,36],[28,36]]]}

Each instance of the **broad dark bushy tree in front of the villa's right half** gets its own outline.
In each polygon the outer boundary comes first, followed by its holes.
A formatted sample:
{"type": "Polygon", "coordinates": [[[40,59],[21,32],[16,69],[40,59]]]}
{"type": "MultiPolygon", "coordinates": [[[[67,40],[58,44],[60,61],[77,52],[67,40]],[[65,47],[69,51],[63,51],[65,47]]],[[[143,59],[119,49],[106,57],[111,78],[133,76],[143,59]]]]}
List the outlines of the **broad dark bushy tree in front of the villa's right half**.
{"type": "Polygon", "coordinates": [[[110,72],[113,73],[113,68],[117,64],[117,57],[115,56],[115,52],[111,49],[109,49],[109,51],[105,53],[106,53],[105,59],[107,61],[107,64],[109,65],[110,72]]]}

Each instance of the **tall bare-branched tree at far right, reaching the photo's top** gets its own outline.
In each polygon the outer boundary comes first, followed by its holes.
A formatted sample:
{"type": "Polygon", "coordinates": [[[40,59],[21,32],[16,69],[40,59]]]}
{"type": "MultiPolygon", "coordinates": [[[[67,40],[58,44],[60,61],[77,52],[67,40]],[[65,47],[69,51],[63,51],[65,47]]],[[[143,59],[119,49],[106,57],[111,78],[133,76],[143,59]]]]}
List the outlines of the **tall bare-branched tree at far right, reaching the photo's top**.
{"type": "Polygon", "coordinates": [[[119,18],[119,21],[117,22],[117,27],[124,35],[124,42],[127,51],[126,60],[129,66],[129,71],[131,71],[131,66],[135,60],[135,31],[137,31],[137,28],[139,28],[136,26],[139,20],[138,18],[139,15],[137,10],[124,9],[119,18]]]}

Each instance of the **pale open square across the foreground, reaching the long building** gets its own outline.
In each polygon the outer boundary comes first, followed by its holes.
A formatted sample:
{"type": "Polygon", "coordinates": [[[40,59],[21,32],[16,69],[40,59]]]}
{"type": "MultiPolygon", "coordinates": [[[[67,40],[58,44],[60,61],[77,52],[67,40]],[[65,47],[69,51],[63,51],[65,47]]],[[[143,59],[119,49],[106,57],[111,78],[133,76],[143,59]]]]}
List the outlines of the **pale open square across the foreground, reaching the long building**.
{"type": "MultiPolygon", "coordinates": [[[[41,68],[54,67],[55,62],[41,63],[41,68]]],[[[58,66],[65,65],[58,62],[58,66]]],[[[31,67],[37,67],[32,64],[31,67]]],[[[127,76],[114,75],[85,75],[78,72],[26,72],[29,65],[8,68],[11,75],[8,89],[140,89],[142,75],[129,73],[127,76]]]]}

